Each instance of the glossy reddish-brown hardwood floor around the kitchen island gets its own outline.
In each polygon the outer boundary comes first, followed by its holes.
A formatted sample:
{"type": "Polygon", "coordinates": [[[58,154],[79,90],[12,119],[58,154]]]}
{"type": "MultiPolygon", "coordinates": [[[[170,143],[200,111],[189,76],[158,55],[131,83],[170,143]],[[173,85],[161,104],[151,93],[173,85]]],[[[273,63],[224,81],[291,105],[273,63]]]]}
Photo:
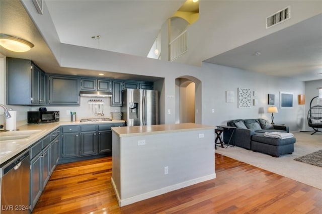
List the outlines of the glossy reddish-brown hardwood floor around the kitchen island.
{"type": "Polygon", "coordinates": [[[322,190],[219,154],[215,171],[215,179],[119,207],[112,157],[61,164],[33,213],[322,213],[322,190]]]}

